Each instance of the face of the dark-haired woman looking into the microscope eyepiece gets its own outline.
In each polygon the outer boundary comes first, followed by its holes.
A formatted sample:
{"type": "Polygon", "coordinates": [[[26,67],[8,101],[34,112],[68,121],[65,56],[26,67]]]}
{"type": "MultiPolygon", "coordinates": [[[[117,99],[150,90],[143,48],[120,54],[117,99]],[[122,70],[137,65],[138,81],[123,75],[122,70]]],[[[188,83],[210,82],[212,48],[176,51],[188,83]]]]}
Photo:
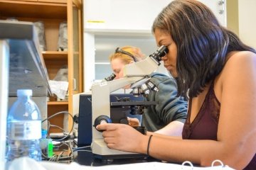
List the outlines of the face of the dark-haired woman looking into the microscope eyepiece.
{"type": "Polygon", "coordinates": [[[162,30],[156,29],[154,32],[154,37],[156,39],[156,44],[160,47],[161,45],[166,45],[169,52],[162,57],[164,61],[164,67],[171,73],[173,77],[178,77],[176,69],[176,59],[177,59],[177,46],[174,40],[172,40],[171,35],[162,30]]]}

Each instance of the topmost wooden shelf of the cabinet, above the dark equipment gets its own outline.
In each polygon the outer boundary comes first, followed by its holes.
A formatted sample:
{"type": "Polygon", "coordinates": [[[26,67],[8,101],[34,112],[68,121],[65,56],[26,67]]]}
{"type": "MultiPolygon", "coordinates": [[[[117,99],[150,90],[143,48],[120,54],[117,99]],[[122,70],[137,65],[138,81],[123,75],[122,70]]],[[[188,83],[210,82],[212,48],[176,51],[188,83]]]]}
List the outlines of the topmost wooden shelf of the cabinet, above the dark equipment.
{"type": "Polygon", "coordinates": [[[1,17],[67,19],[67,4],[38,1],[0,1],[1,17]]]}

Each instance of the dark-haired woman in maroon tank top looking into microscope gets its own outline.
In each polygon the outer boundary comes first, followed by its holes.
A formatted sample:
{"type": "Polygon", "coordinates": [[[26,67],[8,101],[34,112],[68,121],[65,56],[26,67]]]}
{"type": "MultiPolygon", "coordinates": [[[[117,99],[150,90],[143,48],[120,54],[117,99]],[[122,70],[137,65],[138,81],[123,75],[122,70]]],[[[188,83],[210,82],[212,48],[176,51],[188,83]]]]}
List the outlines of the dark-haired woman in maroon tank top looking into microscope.
{"type": "Polygon", "coordinates": [[[149,154],[168,162],[256,169],[256,51],[220,26],[195,0],[174,0],[156,17],[152,32],[169,52],[164,66],[188,96],[182,139],[142,135],[129,125],[98,125],[107,147],[149,154]],[[125,132],[125,133],[122,133],[125,132]]]}

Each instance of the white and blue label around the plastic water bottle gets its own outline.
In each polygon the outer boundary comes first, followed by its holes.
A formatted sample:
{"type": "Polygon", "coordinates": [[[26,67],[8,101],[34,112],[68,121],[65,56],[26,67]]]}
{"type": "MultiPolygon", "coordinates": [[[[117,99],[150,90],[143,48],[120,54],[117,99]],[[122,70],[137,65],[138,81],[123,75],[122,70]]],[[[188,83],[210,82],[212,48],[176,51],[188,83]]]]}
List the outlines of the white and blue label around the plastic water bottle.
{"type": "Polygon", "coordinates": [[[11,122],[11,140],[38,140],[41,136],[41,120],[11,122]]]}

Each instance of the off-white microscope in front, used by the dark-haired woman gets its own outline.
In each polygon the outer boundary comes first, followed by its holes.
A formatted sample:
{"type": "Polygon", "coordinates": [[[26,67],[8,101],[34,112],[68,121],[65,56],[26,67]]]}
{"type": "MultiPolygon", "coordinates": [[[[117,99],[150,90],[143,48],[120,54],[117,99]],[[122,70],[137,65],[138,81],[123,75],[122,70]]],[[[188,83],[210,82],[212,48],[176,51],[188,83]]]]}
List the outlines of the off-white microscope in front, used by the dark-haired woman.
{"type": "MultiPolygon", "coordinates": [[[[151,89],[156,88],[150,84],[150,74],[159,67],[161,57],[164,57],[167,53],[167,47],[162,45],[156,52],[144,60],[125,65],[123,78],[92,85],[92,154],[95,157],[100,159],[142,157],[137,153],[122,152],[108,148],[103,140],[102,132],[98,131],[95,127],[102,123],[112,123],[110,116],[110,93],[112,91],[127,85],[131,85],[133,91],[137,91],[138,88],[142,89],[142,91],[144,89],[144,93],[147,92],[143,84],[147,84],[151,89]]],[[[119,104],[115,103],[115,105],[119,104]]],[[[121,105],[125,105],[125,103],[122,102],[121,105]]],[[[135,111],[137,110],[135,109],[135,111]]]]}

